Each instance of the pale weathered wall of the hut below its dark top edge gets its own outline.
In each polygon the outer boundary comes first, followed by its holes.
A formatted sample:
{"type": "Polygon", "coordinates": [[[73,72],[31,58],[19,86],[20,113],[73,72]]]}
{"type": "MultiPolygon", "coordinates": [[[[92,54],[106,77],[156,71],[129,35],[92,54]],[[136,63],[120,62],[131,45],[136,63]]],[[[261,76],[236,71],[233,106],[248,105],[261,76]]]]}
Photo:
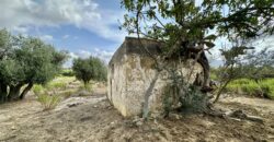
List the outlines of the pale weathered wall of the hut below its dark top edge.
{"type": "MultiPolygon", "coordinates": [[[[182,72],[185,79],[190,76],[190,83],[194,82],[197,73],[203,72],[202,66],[194,64],[193,60],[183,63],[170,62],[169,64],[175,64],[178,71],[182,72]],[[191,71],[192,69],[193,71],[191,71]]],[[[155,66],[156,62],[152,58],[134,52],[119,55],[118,60],[114,58],[110,62],[107,97],[123,116],[129,117],[141,114],[145,94],[158,73],[155,66]]],[[[149,110],[153,114],[163,110],[162,95],[164,86],[170,82],[168,75],[167,71],[159,72],[152,95],[149,97],[149,110]]]]}

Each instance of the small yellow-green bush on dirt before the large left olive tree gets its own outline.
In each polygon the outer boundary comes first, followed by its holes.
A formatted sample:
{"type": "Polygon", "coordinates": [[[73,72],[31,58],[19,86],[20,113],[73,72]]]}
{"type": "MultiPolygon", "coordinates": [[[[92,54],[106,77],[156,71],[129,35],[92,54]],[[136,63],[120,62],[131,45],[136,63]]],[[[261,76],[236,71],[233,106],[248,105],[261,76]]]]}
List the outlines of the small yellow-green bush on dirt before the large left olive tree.
{"type": "Polygon", "coordinates": [[[44,110],[50,110],[54,109],[61,99],[58,95],[39,94],[37,100],[44,107],[44,110]]]}

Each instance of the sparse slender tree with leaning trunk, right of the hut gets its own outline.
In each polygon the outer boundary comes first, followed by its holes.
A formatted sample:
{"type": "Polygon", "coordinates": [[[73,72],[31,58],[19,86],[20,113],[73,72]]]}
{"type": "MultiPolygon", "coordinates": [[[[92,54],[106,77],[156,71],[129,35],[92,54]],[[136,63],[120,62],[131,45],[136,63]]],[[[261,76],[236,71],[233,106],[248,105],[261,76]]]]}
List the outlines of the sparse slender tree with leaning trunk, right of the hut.
{"type": "Polygon", "coordinates": [[[270,73],[270,70],[274,71],[274,50],[267,48],[261,51],[249,49],[254,48],[242,46],[232,47],[228,50],[221,49],[221,55],[225,57],[225,64],[217,72],[220,86],[217,90],[215,103],[231,81],[247,78],[258,82],[264,79],[264,75],[270,73]]]}

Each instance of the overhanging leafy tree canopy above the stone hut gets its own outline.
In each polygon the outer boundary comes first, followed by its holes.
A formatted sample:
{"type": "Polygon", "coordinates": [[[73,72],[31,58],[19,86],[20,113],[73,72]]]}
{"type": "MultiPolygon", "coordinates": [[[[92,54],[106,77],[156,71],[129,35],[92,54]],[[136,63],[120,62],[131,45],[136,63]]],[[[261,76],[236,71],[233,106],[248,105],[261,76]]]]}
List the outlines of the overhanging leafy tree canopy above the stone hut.
{"type": "Polygon", "coordinates": [[[129,34],[165,42],[171,52],[213,48],[219,36],[248,40],[274,32],[273,0],[122,0],[122,5],[129,34]]]}

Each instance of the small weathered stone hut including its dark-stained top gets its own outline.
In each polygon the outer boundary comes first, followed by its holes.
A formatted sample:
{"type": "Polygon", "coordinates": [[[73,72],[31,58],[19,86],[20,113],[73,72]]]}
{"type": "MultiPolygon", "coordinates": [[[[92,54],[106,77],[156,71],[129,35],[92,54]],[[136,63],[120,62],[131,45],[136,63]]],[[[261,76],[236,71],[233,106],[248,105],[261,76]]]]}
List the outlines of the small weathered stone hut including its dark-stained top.
{"type": "MultiPolygon", "coordinates": [[[[156,60],[150,56],[159,57],[161,46],[161,43],[152,39],[126,37],[112,57],[107,73],[107,98],[123,116],[141,114],[145,94],[157,73],[159,75],[153,82],[148,108],[153,114],[163,110],[162,95],[164,86],[170,83],[169,74],[164,70],[159,73],[156,60]]],[[[169,64],[175,64],[175,69],[183,73],[182,76],[187,76],[190,83],[194,82],[197,74],[203,73],[202,66],[192,59],[184,62],[170,61],[169,64]]]]}

